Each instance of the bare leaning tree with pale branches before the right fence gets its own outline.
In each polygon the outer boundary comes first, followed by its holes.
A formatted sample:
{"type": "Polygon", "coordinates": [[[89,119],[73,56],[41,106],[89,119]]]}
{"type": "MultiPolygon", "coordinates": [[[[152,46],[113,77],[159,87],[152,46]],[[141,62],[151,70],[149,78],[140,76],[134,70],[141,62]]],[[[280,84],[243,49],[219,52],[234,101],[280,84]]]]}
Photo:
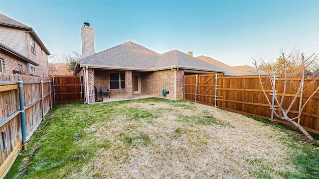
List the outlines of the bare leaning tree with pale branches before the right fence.
{"type": "MultiPolygon", "coordinates": [[[[257,70],[258,76],[259,76],[259,82],[261,85],[261,88],[263,90],[263,93],[270,105],[271,110],[274,112],[274,114],[281,120],[287,121],[291,123],[293,126],[295,126],[297,129],[299,129],[309,140],[310,143],[315,144],[316,141],[314,138],[300,125],[300,118],[302,115],[302,111],[305,108],[306,104],[309,102],[309,100],[319,92],[319,85],[315,86],[315,88],[312,87],[310,89],[310,86],[313,83],[316,83],[316,80],[318,80],[318,73],[313,72],[311,74],[308,73],[309,68],[316,66],[318,64],[318,56],[315,54],[305,57],[303,53],[294,53],[291,52],[288,56],[281,51],[281,57],[278,60],[277,65],[279,64],[280,67],[277,67],[277,69],[280,69],[279,71],[274,71],[272,68],[262,68],[260,67],[269,67],[269,64],[265,63],[264,60],[259,59],[253,59],[254,66],[257,70]],[[269,99],[268,95],[265,92],[265,83],[261,79],[260,71],[263,70],[264,72],[267,73],[267,81],[271,84],[274,96],[275,96],[275,101],[278,106],[278,110],[276,110],[276,107],[272,105],[271,100],[269,99]],[[276,78],[276,75],[278,73],[282,76],[283,78],[283,94],[281,97],[278,97],[277,91],[276,91],[276,85],[273,81],[273,79],[276,78]],[[307,76],[306,76],[307,75],[307,76]],[[305,81],[310,81],[310,83],[305,84],[305,81]],[[287,91],[292,90],[297,91],[296,94],[293,95],[293,98],[291,102],[289,103],[287,109],[284,109],[283,104],[286,99],[287,91]],[[302,103],[302,94],[303,92],[308,89],[312,90],[311,95],[307,98],[307,100],[302,103]],[[300,97],[300,103],[299,103],[299,110],[298,110],[298,115],[296,117],[289,117],[288,113],[291,111],[293,105],[298,102],[297,99],[300,97]],[[298,120],[296,122],[295,120],[298,120]]],[[[291,95],[290,95],[291,96],[291,95]]]]}

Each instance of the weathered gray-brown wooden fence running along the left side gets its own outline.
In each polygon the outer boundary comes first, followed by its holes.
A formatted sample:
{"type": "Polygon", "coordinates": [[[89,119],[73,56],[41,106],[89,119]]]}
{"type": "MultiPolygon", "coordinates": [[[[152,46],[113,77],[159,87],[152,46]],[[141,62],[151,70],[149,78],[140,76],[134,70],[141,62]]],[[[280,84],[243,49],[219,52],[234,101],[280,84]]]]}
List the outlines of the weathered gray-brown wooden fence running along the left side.
{"type": "Polygon", "coordinates": [[[26,148],[23,141],[32,136],[52,107],[51,91],[50,78],[0,74],[0,178],[6,175],[21,148],[26,148]]]}

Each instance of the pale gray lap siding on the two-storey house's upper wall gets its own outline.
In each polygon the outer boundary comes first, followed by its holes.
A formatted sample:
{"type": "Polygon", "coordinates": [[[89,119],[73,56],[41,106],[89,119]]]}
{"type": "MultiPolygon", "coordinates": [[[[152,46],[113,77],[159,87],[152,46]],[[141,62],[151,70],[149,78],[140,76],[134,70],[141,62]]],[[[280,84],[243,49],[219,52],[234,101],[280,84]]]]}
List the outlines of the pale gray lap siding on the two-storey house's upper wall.
{"type": "Polygon", "coordinates": [[[23,30],[0,26],[0,42],[20,54],[27,56],[23,30]]]}

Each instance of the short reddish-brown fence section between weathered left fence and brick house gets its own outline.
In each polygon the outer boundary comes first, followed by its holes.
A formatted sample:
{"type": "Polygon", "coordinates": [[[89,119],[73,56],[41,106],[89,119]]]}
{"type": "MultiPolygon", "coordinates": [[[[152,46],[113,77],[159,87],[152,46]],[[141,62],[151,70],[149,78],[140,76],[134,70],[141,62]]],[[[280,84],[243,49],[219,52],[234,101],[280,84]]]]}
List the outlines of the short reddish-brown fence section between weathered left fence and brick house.
{"type": "Polygon", "coordinates": [[[83,100],[83,78],[81,76],[52,76],[54,103],[83,100]]]}

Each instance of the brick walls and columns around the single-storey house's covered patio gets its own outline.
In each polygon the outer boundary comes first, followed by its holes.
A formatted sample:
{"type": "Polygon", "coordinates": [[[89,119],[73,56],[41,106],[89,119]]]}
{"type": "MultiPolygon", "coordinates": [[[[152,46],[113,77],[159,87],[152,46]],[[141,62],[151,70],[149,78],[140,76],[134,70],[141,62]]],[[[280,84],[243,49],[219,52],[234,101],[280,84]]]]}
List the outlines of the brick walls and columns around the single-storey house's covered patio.
{"type": "MultiPolygon", "coordinates": [[[[84,68],[83,68],[84,69],[84,68]]],[[[169,94],[166,98],[174,99],[174,70],[162,70],[141,74],[141,93],[155,97],[163,97],[161,91],[166,89],[169,94]]],[[[86,83],[85,71],[81,70],[80,76],[84,76],[84,84],[86,83]]],[[[176,99],[184,98],[184,70],[176,70],[176,99]]],[[[94,102],[94,86],[98,90],[98,98],[100,98],[100,86],[106,85],[112,96],[125,96],[128,99],[133,97],[132,91],[132,71],[108,71],[89,69],[89,88],[90,103],[94,102]],[[110,73],[125,73],[125,89],[110,89],[110,73]],[[92,83],[93,82],[93,83],[92,83]]],[[[84,87],[85,90],[85,87],[84,87]]],[[[106,96],[104,96],[106,97],[106,96]]]]}

